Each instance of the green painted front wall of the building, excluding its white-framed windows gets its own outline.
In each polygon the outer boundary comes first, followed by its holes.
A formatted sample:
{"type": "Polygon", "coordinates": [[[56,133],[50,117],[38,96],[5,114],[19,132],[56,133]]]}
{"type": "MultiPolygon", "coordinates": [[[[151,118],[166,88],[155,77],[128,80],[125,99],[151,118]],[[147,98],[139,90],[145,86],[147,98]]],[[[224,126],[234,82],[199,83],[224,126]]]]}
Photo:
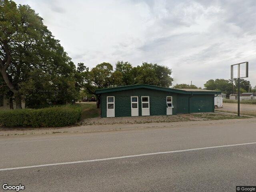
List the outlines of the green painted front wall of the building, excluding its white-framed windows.
{"type": "Polygon", "coordinates": [[[166,96],[172,96],[172,114],[213,112],[214,95],[184,95],[152,89],[132,89],[101,94],[101,116],[107,116],[107,96],[115,96],[115,116],[131,116],[131,96],[139,97],[139,116],[141,116],[141,96],[149,96],[150,115],[166,115],[166,96]],[[191,97],[191,98],[190,98],[191,97]]]}

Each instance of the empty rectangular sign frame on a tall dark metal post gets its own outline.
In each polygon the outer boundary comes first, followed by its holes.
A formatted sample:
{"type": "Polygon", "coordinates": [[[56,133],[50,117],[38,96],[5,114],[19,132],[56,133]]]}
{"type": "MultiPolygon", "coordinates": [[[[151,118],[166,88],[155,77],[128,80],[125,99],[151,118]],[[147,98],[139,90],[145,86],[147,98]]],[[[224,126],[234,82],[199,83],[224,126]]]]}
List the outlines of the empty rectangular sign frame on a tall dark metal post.
{"type": "Polygon", "coordinates": [[[231,79],[238,80],[238,93],[237,93],[237,115],[240,116],[240,78],[247,78],[248,77],[248,64],[249,62],[242,62],[238,64],[231,65],[231,79]],[[240,65],[245,66],[245,71],[242,71],[243,74],[241,76],[241,68],[240,65]],[[234,67],[237,67],[237,77],[234,78],[234,67]]]}

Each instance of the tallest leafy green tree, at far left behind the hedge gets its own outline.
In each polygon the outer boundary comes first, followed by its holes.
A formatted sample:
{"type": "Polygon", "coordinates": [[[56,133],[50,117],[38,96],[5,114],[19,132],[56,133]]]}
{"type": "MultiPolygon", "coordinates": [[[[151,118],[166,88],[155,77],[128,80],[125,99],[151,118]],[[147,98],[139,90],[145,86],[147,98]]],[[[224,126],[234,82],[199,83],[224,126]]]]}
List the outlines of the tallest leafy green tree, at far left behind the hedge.
{"type": "Polygon", "coordinates": [[[28,104],[74,100],[75,65],[43,19],[12,0],[0,0],[0,13],[0,74],[16,108],[22,99],[28,104]]]}

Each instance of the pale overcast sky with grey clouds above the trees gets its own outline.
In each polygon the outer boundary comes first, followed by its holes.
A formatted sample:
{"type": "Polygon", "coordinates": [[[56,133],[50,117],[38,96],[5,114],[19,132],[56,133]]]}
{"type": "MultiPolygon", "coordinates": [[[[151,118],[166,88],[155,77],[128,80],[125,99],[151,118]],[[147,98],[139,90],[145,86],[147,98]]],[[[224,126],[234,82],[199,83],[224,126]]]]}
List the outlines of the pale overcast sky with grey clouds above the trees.
{"type": "Polygon", "coordinates": [[[230,78],[249,62],[256,85],[255,0],[15,0],[28,4],[74,63],[144,61],[173,70],[174,84],[230,78]]]}

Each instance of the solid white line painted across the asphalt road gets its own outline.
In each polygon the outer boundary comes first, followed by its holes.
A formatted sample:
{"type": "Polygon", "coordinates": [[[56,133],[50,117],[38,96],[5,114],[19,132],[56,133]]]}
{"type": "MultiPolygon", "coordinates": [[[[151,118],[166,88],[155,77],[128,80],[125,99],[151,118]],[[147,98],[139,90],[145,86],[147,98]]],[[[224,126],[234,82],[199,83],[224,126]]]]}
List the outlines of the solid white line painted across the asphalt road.
{"type": "Polygon", "coordinates": [[[128,156],[120,156],[120,157],[110,157],[110,158],[104,158],[104,159],[94,159],[94,160],[84,160],[84,161],[74,161],[74,162],[64,162],[64,163],[52,163],[52,164],[43,164],[43,165],[33,165],[33,166],[25,166],[25,167],[4,168],[4,169],[0,169],[0,171],[16,170],[16,169],[26,169],[26,168],[34,168],[34,167],[45,167],[45,166],[53,166],[53,165],[66,165],[66,164],[75,164],[75,163],[86,163],[86,162],[94,162],[94,161],[106,161],[106,160],[112,160],[112,159],[123,159],[123,158],[130,158],[130,157],[140,157],[140,156],[148,156],[148,155],[156,155],[156,154],[167,154],[167,153],[178,153],[178,152],[196,151],[196,150],[203,150],[203,149],[232,147],[232,146],[250,145],[250,144],[256,144],[256,142],[242,143],[242,144],[233,144],[233,145],[212,146],[212,147],[202,147],[202,148],[184,149],[184,150],[175,150],[175,151],[166,151],[166,152],[146,153],[146,154],[128,155],[128,156]]]}

